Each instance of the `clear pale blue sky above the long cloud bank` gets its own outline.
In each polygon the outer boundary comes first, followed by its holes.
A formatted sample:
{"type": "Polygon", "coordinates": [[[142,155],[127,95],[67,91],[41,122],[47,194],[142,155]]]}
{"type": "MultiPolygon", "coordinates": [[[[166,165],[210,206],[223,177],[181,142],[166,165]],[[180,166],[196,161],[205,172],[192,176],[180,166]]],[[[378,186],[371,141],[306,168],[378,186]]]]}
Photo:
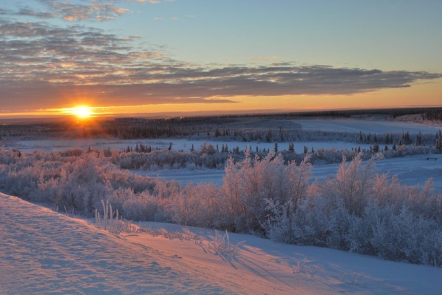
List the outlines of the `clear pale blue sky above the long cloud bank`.
{"type": "Polygon", "coordinates": [[[180,60],[250,63],[264,57],[381,70],[442,70],[442,1],[190,0],[128,7],[133,12],[111,28],[166,45],[180,60]]]}

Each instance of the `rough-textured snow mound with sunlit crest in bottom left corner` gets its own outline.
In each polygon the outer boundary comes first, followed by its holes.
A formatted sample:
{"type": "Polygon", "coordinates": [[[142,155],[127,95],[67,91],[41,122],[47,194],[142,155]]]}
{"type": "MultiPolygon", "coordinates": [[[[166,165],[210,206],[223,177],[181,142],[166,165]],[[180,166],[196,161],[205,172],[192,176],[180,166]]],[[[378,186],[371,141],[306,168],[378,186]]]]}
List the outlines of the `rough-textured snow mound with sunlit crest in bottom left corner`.
{"type": "Polygon", "coordinates": [[[229,293],[172,258],[0,194],[0,294],[229,293]]]}

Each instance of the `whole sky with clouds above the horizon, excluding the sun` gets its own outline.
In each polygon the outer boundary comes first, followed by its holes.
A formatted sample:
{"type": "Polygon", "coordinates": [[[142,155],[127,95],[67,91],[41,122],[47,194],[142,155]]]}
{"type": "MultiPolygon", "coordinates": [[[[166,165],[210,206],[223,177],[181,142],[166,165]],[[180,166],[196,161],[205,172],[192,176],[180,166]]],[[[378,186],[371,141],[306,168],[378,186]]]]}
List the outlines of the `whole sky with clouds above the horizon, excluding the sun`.
{"type": "Polygon", "coordinates": [[[440,0],[0,0],[0,118],[442,105],[440,0]]]}

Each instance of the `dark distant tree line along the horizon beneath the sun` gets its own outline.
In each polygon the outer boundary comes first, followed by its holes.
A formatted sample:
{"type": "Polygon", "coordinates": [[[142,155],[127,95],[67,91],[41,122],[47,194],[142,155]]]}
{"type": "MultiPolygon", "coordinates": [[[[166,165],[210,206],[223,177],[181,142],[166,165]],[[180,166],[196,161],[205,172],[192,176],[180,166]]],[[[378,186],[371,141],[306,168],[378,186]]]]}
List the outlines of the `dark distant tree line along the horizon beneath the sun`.
{"type": "MultiPolygon", "coordinates": [[[[320,132],[306,131],[298,127],[276,128],[253,127],[253,122],[245,128],[241,122],[244,119],[300,119],[311,116],[328,117],[351,117],[363,114],[383,114],[396,118],[405,114],[421,114],[423,119],[442,121],[442,108],[401,108],[380,110],[338,110],[338,111],[315,111],[315,112],[287,112],[280,114],[242,114],[224,116],[193,116],[173,117],[166,119],[140,119],[140,118],[117,118],[96,119],[77,123],[74,121],[59,121],[50,123],[23,123],[0,125],[0,139],[14,138],[17,136],[58,136],[58,137],[91,137],[91,136],[115,136],[119,139],[142,139],[142,138],[170,138],[186,137],[193,139],[223,138],[240,141],[347,141],[365,143],[385,143],[390,140],[398,143],[401,135],[390,134],[390,138],[380,139],[375,134],[364,134],[361,140],[358,134],[347,132],[320,132]]],[[[295,121],[296,122],[296,121],[295,121]]],[[[412,139],[414,140],[414,139],[412,139]]],[[[410,144],[405,139],[405,144],[410,144]]],[[[422,143],[430,144],[425,138],[422,143]]]]}

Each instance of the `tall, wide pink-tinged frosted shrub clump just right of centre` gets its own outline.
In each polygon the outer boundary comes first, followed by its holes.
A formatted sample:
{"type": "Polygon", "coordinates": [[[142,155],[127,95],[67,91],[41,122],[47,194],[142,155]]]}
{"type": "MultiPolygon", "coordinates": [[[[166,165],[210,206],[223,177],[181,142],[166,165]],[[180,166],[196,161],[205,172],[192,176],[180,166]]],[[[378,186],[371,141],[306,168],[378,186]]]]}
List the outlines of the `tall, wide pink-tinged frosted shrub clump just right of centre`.
{"type": "MultiPolygon", "coordinates": [[[[224,176],[224,198],[234,228],[240,232],[262,232],[260,223],[269,216],[269,201],[291,203],[296,211],[298,201],[307,196],[311,165],[308,156],[299,166],[295,162],[284,164],[280,154],[269,152],[253,159],[249,150],[244,161],[236,164],[229,159],[224,176]]],[[[278,214],[276,212],[273,212],[278,214]]]]}

